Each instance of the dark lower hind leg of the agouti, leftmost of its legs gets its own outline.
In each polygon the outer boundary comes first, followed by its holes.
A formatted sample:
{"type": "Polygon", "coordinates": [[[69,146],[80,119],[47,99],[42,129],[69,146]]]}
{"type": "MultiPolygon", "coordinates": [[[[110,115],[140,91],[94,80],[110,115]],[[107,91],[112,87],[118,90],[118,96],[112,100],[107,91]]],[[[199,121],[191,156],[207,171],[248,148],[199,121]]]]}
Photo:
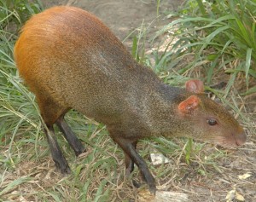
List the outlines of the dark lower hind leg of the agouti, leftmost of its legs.
{"type": "Polygon", "coordinates": [[[61,153],[61,148],[55,138],[55,131],[52,125],[47,126],[47,129],[44,128],[44,132],[47,137],[47,141],[49,143],[49,150],[52,156],[52,159],[55,162],[55,166],[57,169],[61,170],[63,174],[69,174],[71,172],[67,160],[61,153]]]}

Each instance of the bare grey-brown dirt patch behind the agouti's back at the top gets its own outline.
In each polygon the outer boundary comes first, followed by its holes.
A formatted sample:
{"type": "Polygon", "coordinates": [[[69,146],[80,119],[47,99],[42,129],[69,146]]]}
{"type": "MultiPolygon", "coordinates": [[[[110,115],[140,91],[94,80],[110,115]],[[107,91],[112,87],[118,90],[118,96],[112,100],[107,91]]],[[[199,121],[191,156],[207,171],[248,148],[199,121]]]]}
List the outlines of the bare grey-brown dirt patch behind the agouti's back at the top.
{"type": "MultiPolygon", "coordinates": [[[[138,27],[150,25],[149,32],[153,34],[160,26],[171,21],[164,20],[165,15],[160,15],[158,20],[155,20],[156,0],[44,0],[42,2],[45,8],[54,5],[72,5],[96,14],[127,47],[131,46],[129,35],[138,27]]],[[[176,10],[182,3],[182,0],[162,1],[159,14],[176,10]]]]}

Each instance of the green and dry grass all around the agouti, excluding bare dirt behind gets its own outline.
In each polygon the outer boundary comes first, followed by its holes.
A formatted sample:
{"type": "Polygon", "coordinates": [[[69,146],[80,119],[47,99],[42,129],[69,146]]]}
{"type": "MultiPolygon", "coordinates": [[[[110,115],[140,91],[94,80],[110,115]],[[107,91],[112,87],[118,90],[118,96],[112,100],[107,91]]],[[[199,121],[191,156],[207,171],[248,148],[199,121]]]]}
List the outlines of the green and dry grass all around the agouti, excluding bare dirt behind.
{"type": "MultiPolygon", "coordinates": [[[[104,125],[77,112],[67,120],[87,152],[75,158],[59,132],[73,174],[55,170],[37,104],[13,58],[20,27],[42,2],[0,0],[0,201],[142,201],[143,188],[124,181],[123,153],[104,125]]],[[[161,190],[187,193],[189,201],[256,201],[256,2],[188,0],[176,11],[165,9],[168,3],[154,1],[154,22],[127,32],[124,43],[166,84],[201,78],[247,130],[247,143],[224,149],[160,137],[140,141],[138,150],[161,190]],[[171,161],[155,166],[149,153],[171,161]]],[[[137,170],[133,177],[140,179],[137,170]]]]}

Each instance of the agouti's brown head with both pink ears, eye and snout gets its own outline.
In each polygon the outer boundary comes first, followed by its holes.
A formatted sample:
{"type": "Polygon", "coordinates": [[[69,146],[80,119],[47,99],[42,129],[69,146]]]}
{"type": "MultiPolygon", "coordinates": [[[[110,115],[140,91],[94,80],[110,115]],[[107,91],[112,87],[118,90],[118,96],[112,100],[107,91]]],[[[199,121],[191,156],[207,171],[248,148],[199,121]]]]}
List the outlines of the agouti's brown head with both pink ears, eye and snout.
{"type": "Polygon", "coordinates": [[[183,120],[184,136],[208,141],[223,147],[238,147],[246,141],[246,135],[235,118],[217,102],[203,95],[199,80],[186,83],[185,100],[178,102],[177,114],[183,120]]]}

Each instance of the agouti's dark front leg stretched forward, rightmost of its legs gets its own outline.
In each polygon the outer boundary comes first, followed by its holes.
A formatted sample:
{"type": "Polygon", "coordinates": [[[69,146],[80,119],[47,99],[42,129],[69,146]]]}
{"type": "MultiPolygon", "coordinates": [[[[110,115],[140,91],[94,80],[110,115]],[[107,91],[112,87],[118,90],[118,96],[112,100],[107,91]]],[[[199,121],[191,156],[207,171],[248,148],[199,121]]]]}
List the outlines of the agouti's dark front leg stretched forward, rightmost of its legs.
{"type": "MultiPolygon", "coordinates": [[[[120,138],[113,136],[113,140],[119,144],[119,146],[124,150],[124,152],[130,157],[131,161],[133,161],[135,164],[137,164],[137,167],[141,171],[145,181],[148,184],[149,191],[150,193],[155,194],[156,192],[156,187],[155,187],[155,181],[154,177],[148,170],[148,165],[146,162],[143,160],[143,158],[137,153],[133,143],[127,139],[120,138]]],[[[132,162],[131,162],[132,164],[132,162]]]]}

